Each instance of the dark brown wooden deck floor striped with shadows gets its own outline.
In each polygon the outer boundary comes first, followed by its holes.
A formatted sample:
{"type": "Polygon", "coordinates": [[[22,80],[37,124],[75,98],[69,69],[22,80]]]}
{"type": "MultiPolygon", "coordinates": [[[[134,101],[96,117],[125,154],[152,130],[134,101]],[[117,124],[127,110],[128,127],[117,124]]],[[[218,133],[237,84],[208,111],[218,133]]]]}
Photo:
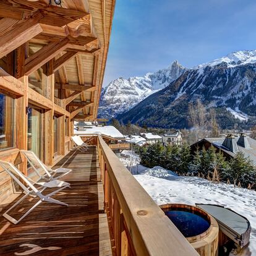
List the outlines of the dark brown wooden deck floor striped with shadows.
{"type": "MultiPolygon", "coordinates": [[[[71,151],[55,167],[60,166],[73,169],[63,178],[71,188],[53,198],[69,206],[41,203],[17,225],[1,216],[1,256],[112,255],[96,147],[90,147],[87,153],[71,151]]],[[[11,215],[19,218],[37,200],[29,197],[11,215]]]]}

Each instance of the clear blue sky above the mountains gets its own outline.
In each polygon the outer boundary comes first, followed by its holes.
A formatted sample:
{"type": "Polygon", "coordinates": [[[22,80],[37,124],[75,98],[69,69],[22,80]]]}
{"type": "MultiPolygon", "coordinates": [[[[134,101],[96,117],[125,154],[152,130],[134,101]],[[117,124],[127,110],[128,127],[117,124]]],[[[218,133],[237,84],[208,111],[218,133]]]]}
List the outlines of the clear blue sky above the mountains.
{"type": "Polygon", "coordinates": [[[103,86],[256,49],[255,0],[116,0],[103,86]]]}

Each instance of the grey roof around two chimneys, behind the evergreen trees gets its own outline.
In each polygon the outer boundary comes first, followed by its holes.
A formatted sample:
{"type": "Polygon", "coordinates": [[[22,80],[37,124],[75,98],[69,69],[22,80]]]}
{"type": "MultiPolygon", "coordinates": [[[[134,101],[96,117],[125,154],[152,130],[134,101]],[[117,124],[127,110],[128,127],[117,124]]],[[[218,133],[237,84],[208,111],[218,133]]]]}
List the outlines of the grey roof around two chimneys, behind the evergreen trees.
{"type": "MultiPolygon", "coordinates": [[[[236,156],[236,153],[240,151],[244,154],[245,158],[249,158],[250,161],[252,161],[252,164],[254,164],[254,166],[256,166],[256,140],[254,140],[250,137],[247,137],[250,147],[244,148],[244,147],[237,145],[238,151],[236,151],[235,153],[228,150],[227,148],[223,147],[222,144],[223,144],[225,138],[205,138],[203,140],[210,142],[214,147],[220,148],[220,150],[222,150],[224,153],[227,153],[228,155],[230,155],[233,158],[236,156]]],[[[203,140],[200,140],[197,143],[200,143],[203,140]]],[[[235,140],[237,142],[237,140],[239,140],[239,137],[235,137],[235,140]]]]}

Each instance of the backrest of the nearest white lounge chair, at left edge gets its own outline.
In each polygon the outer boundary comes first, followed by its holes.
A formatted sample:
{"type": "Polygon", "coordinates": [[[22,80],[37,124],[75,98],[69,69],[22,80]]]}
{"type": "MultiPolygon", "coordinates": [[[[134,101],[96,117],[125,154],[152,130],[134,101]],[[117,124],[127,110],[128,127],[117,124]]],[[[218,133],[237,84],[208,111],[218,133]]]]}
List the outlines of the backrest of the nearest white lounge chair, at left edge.
{"type": "Polygon", "coordinates": [[[14,179],[14,181],[16,181],[23,190],[25,190],[25,192],[29,192],[30,190],[28,190],[28,188],[20,181],[20,179],[22,179],[22,181],[25,182],[25,184],[27,184],[27,186],[30,187],[33,192],[38,192],[38,189],[36,189],[36,187],[32,184],[33,181],[30,182],[30,178],[25,176],[19,169],[14,166],[14,164],[6,161],[0,161],[0,165],[12,177],[12,179],[14,179]],[[17,176],[20,177],[20,179],[17,176]]]}

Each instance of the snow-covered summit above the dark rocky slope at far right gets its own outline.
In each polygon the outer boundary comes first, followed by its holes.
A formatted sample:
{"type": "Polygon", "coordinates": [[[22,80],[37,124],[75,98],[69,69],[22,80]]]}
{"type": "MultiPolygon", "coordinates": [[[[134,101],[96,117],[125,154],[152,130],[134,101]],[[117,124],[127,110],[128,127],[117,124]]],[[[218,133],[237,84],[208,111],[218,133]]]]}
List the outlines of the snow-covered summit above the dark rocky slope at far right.
{"type": "Polygon", "coordinates": [[[228,55],[221,57],[219,59],[214,59],[213,61],[200,64],[195,67],[195,69],[200,69],[206,66],[216,66],[221,64],[222,62],[226,62],[228,67],[235,67],[243,64],[255,63],[256,62],[256,50],[251,51],[235,51],[233,53],[229,53],[228,55]]]}

